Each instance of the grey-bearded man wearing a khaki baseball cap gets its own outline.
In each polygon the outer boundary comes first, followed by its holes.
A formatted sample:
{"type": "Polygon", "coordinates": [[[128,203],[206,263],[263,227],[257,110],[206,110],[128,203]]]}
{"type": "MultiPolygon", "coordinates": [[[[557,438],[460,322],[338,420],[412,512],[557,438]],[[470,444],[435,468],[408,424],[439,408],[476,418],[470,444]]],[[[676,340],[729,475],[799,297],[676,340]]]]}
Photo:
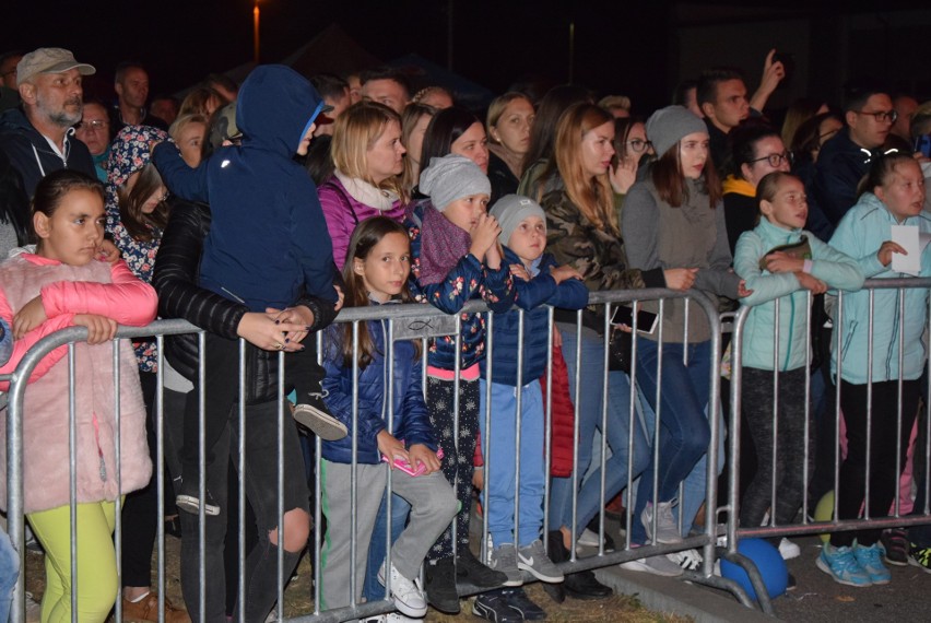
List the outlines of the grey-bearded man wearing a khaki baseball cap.
{"type": "Polygon", "coordinates": [[[95,71],[62,48],[39,48],[16,66],[23,104],[0,116],[0,150],[22,177],[28,198],[54,171],[71,168],[96,177],[91,152],[72,138],[71,128],[84,108],[81,79],[95,71]]]}

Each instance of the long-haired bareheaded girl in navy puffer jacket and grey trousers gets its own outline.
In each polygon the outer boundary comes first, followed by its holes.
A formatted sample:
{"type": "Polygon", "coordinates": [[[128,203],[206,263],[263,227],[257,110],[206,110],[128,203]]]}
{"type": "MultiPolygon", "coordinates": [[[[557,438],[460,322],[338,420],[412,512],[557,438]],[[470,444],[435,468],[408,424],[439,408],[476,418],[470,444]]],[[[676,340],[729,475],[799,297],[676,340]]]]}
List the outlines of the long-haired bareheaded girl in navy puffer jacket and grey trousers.
{"type": "MultiPolygon", "coordinates": [[[[385,216],[363,221],[352,235],[349,261],[343,268],[346,306],[362,307],[410,302],[408,275],[411,271],[410,243],[404,227],[385,216]]],[[[327,539],[323,564],[321,608],[350,606],[362,596],[368,543],[390,461],[401,459],[421,475],[409,475],[396,469],[393,492],[412,508],[411,520],[391,548],[390,588],[394,604],[408,616],[426,614],[426,601],[420,588],[420,567],[436,538],[456,515],[452,489],[439,471],[436,436],[427,416],[421,385],[422,364],[419,344],[393,343],[393,358],[388,353],[388,322],[370,320],[358,325],[360,352],[353,352],[353,325],[329,330],[326,356],[327,405],[350,428],[350,436],[322,446],[321,484],[327,539]],[[355,360],[355,361],[354,361],[355,360]],[[353,378],[353,364],[358,377],[353,378]],[[386,387],[393,379],[393,388],[386,387]],[[357,428],[352,430],[353,387],[358,388],[357,428]],[[385,401],[392,397],[392,403],[385,401]],[[393,421],[392,421],[393,418],[393,421]],[[357,506],[353,507],[350,479],[353,439],[357,443],[357,506]],[[355,595],[349,593],[350,543],[352,517],[356,517],[355,595]]],[[[382,563],[379,580],[386,584],[388,573],[382,563]]]]}

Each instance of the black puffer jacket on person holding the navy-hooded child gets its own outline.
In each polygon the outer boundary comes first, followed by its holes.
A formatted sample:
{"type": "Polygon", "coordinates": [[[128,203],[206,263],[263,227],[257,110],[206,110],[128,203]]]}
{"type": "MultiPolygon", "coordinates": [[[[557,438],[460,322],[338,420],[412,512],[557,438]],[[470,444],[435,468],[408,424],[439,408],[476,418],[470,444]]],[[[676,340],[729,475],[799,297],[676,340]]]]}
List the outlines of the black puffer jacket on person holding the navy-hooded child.
{"type": "MultiPolygon", "coordinates": [[[[248,307],[214,294],[197,284],[203,238],[210,231],[210,208],[181,199],[172,199],[172,216],[155,258],[152,285],[158,293],[162,318],[184,318],[201,329],[236,340],[236,328],[248,307]]],[[[314,313],[311,329],[318,331],[335,318],[332,304],[304,297],[298,302],[314,313]]],[[[189,380],[197,379],[198,340],[193,333],[165,341],[165,355],[172,367],[189,380]]],[[[278,353],[247,344],[246,401],[249,404],[278,399],[278,353]]],[[[231,379],[235,383],[235,379],[231,379]]]]}

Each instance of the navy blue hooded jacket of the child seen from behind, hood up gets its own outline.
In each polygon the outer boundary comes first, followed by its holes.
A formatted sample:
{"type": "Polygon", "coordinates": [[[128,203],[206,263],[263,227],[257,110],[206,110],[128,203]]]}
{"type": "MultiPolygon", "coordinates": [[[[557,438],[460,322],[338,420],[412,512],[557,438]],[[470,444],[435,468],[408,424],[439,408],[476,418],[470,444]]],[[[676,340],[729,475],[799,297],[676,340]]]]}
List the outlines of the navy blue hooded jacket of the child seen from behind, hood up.
{"type": "Polygon", "coordinates": [[[168,189],[210,203],[201,285],[251,312],[294,304],[302,289],[337,299],[333,250],[317,187],[292,157],[320,113],[314,86],[283,66],[255,69],[239,90],[243,144],[222,148],[197,168],[163,143],[154,157],[168,189]]]}

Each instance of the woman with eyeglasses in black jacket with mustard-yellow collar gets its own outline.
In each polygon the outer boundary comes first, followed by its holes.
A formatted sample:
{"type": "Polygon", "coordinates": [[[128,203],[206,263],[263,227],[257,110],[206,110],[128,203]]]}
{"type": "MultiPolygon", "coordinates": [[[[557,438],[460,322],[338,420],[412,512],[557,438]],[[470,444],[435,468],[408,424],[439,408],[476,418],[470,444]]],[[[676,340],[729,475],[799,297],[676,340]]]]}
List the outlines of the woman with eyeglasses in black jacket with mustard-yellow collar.
{"type": "Polygon", "coordinates": [[[756,185],[775,171],[788,173],[791,153],[779,131],[763,124],[743,125],[733,130],[730,175],[724,178],[724,223],[731,255],[738,238],[756,226],[758,203],[756,185]]]}

